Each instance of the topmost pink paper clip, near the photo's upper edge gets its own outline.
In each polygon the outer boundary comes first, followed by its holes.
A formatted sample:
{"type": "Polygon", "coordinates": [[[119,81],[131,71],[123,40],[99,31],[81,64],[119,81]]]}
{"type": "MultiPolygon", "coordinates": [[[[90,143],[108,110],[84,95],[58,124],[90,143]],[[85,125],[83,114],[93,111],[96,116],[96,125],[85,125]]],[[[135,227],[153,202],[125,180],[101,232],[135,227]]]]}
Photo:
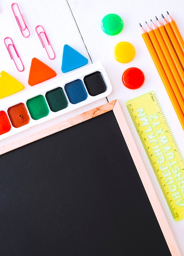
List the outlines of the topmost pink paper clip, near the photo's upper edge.
{"type": "Polygon", "coordinates": [[[18,4],[11,4],[11,9],[13,11],[14,16],[16,17],[16,21],[18,23],[22,35],[27,38],[30,35],[30,31],[24,21],[24,18],[22,17],[18,4]]]}

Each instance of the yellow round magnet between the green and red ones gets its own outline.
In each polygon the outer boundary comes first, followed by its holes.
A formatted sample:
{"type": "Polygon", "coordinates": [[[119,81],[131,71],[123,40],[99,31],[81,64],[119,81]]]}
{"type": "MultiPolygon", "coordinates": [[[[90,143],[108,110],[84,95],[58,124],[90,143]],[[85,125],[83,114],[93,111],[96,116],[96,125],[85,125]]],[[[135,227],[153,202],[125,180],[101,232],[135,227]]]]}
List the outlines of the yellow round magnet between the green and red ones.
{"type": "Polygon", "coordinates": [[[113,54],[117,61],[127,63],[133,60],[135,56],[135,48],[129,42],[120,42],[115,45],[113,54]]]}

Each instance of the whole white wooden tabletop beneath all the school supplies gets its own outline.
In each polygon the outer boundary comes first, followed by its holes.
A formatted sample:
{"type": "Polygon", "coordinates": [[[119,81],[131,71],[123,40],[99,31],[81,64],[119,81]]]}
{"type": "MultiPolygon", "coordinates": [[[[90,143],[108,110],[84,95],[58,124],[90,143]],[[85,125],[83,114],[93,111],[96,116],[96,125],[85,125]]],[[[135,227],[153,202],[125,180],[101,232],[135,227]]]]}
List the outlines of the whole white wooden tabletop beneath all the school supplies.
{"type": "MultiPolygon", "coordinates": [[[[154,90],[177,144],[184,155],[184,130],[177,119],[175,110],[144,44],[139,27],[139,23],[144,26],[145,21],[150,23],[150,19],[155,22],[155,16],[161,19],[161,14],[166,16],[166,11],[168,11],[174,18],[184,38],[183,0],[32,0],[29,2],[19,0],[18,4],[21,7],[24,19],[31,32],[29,38],[24,38],[21,35],[11,10],[11,4],[12,1],[10,0],[0,2],[0,71],[5,70],[16,77],[16,79],[24,84],[25,90],[27,91],[30,89],[28,85],[30,63],[34,57],[41,59],[53,68],[58,77],[65,75],[61,72],[62,49],[64,44],[68,44],[88,58],[88,65],[100,61],[113,86],[113,91],[109,95],[108,100],[106,98],[98,100],[31,129],[34,131],[39,130],[40,128],[56,124],[58,121],[66,120],[84,111],[100,106],[107,101],[117,99],[129,124],[137,148],[144,160],[146,169],[152,179],[157,196],[160,198],[160,203],[163,206],[169,227],[171,228],[171,234],[169,233],[168,235],[168,231],[164,230],[162,223],[160,223],[169,248],[173,255],[184,255],[184,220],[179,222],[173,220],[125,105],[127,100],[154,90]],[[102,18],[109,13],[116,13],[124,22],[122,31],[115,36],[105,34],[101,28],[102,18]],[[42,25],[47,32],[47,36],[55,51],[56,57],[54,60],[49,60],[40,44],[40,40],[35,32],[37,25],[42,25]],[[24,72],[18,72],[16,70],[13,61],[11,61],[7,53],[3,42],[7,36],[13,38],[24,63],[24,72]],[[135,58],[129,63],[119,63],[113,57],[113,48],[121,41],[130,42],[135,47],[135,58]],[[137,90],[130,90],[122,83],[122,74],[129,67],[137,67],[144,73],[144,84],[137,90]]],[[[25,136],[25,134],[29,135],[31,129],[15,135],[16,138],[25,136]]],[[[7,138],[5,141],[0,140],[0,146],[4,142],[11,142],[11,139],[7,138]]]]}

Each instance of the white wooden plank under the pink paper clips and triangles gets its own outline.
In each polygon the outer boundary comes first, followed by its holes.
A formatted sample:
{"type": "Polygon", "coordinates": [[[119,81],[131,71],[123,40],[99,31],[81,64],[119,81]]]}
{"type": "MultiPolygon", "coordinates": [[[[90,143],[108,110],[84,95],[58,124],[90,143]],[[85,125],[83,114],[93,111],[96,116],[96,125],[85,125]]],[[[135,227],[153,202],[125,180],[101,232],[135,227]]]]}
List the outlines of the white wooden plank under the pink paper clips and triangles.
{"type": "MultiPolygon", "coordinates": [[[[31,32],[28,38],[24,38],[22,36],[16,19],[13,15],[11,4],[11,0],[0,2],[0,71],[6,71],[11,76],[15,77],[18,81],[20,81],[20,83],[22,83],[25,87],[25,89],[22,91],[23,93],[33,90],[33,87],[36,88],[42,86],[39,84],[31,87],[28,84],[31,60],[34,57],[38,58],[40,61],[44,62],[53,70],[55,70],[55,72],[57,73],[57,76],[55,77],[56,79],[63,77],[66,74],[69,74],[61,72],[62,53],[65,44],[70,45],[78,52],[80,52],[83,56],[88,58],[89,63],[87,65],[91,65],[91,60],[71,13],[67,0],[33,0],[31,2],[26,2],[24,0],[18,1],[18,6],[20,8],[22,16],[24,17],[27,27],[29,27],[29,30],[31,32]],[[55,52],[54,60],[50,60],[48,58],[45,49],[43,49],[40,43],[40,39],[38,38],[38,35],[35,31],[35,27],[38,25],[42,25],[44,27],[44,30],[50,40],[50,43],[55,52]],[[16,69],[15,64],[9,56],[7,48],[4,44],[4,38],[7,36],[13,39],[13,43],[18,50],[20,58],[22,59],[22,62],[24,64],[23,72],[19,72],[16,69]]],[[[12,97],[16,97],[16,94],[14,94],[12,97]]],[[[0,103],[4,101],[6,101],[6,98],[1,99],[0,103]]],[[[90,110],[91,108],[95,108],[106,102],[106,98],[98,100],[97,102],[91,103],[77,110],[73,110],[67,114],[57,117],[56,119],[52,119],[51,121],[47,121],[44,124],[40,124],[38,127],[35,126],[31,129],[39,130],[41,128],[45,128],[47,126],[50,126],[51,124],[57,123],[59,120],[66,120],[70,117],[74,117],[75,115],[90,110]]],[[[25,135],[29,135],[29,130],[18,133],[16,135],[16,138],[19,139],[21,137],[24,137],[25,135]]],[[[7,138],[5,141],[9,143],[11,141],[11,137],[7,138]]],[[[0,145],[1,143],[4,144],[4,141],[0,140],[0,145]]]]}

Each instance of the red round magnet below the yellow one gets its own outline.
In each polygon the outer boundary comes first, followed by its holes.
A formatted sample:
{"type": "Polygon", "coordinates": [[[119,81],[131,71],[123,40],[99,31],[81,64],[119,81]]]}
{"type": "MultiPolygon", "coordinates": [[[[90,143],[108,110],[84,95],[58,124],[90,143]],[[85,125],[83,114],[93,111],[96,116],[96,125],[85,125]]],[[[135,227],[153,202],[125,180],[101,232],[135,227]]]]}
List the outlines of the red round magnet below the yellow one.
{"type": "Polygon", "coordinates": [[[144,83],[144,74],[137,67],[130,67],[122,75],[123,84],[129,89],[137,89],[144,83]]]}

